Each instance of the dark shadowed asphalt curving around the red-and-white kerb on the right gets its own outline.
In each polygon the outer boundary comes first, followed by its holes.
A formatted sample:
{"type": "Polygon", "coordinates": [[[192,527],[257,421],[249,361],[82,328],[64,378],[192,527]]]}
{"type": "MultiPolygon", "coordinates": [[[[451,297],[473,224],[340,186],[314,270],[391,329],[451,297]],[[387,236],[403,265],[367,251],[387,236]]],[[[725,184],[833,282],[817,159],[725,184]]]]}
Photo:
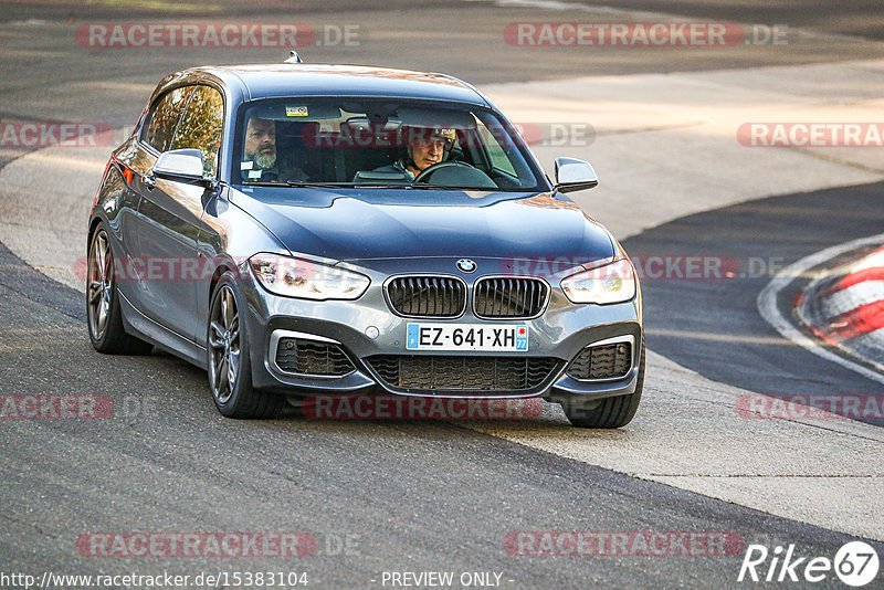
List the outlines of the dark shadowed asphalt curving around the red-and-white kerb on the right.
{"type": "MultiPolygon", "coordinates": [[[[733,278],[643,280],[649,347],[715,381],[774,397],[884,393],[881,383],[782,338],[756,307],[758,294],[782,267],[884,231],[882,193],[884,183],[873,183],[772,197],[682,218],[625,240],[627,251],[640,261],[699,255],[720,256],[723,267],[734,259],[739,263],[733,278]]],[[[787,317],[800,283],[781,294],[787,317]]]]}

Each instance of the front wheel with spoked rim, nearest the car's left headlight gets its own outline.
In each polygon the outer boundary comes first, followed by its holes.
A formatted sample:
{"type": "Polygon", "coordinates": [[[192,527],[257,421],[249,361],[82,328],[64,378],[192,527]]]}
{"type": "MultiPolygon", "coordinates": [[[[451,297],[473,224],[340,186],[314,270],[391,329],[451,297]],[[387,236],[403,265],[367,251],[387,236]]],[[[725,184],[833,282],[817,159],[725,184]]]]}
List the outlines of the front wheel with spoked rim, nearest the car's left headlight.
{"type": "Polygon", "coordinates": [[[212,292],[207,325],[209,388],[218,411],[228,418],[270,418],[282,396],[252,387],[252,366],[245,325],[233,273],[224,273],[212,292]]]}

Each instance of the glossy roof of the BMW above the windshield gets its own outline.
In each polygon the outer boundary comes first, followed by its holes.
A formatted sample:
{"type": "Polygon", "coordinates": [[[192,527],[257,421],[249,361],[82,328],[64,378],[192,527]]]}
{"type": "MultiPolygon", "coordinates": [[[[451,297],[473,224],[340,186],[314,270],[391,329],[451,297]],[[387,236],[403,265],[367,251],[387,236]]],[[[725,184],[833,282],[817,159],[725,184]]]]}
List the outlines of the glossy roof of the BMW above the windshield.
{"type": "Polygon", "coordinates": [[[474,87],[452,76],[391,67],[282,63],[197,67],[229,87],[240,86],[243,99],[277,96],[383,96],[455,101],[490,106],[474,87]]]}

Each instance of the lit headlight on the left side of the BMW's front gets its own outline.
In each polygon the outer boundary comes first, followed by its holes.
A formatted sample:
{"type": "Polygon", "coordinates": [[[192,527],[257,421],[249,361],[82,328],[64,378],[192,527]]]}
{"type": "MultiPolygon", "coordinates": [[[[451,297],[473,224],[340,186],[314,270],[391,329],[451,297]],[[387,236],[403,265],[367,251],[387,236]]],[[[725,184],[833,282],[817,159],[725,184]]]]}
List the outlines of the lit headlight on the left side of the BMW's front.
{"type": "Polygon", "coordinates": [[[271,293],[303,299],[356,299],[371,280],[352,271],[277,254],[255,254],[249,266],[271,293]]]}

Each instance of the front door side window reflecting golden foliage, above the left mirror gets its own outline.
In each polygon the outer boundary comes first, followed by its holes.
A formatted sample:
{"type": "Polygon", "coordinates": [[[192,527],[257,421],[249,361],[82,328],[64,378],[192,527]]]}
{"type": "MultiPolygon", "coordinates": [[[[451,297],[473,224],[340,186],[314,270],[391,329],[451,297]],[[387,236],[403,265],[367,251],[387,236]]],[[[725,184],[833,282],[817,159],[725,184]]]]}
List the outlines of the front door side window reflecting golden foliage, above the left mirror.
{"type": "Polygon", "coordinates": [[[202,151],[203,173],[215,176],[221,130],[224,126],[224,98],[211,86],[197,86],[178,125],[171,149],[196,148],[202,151]]]}

